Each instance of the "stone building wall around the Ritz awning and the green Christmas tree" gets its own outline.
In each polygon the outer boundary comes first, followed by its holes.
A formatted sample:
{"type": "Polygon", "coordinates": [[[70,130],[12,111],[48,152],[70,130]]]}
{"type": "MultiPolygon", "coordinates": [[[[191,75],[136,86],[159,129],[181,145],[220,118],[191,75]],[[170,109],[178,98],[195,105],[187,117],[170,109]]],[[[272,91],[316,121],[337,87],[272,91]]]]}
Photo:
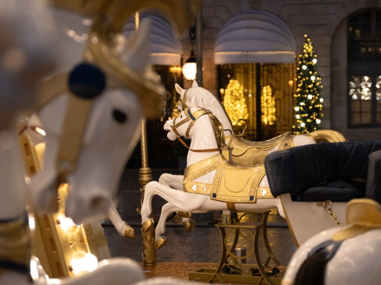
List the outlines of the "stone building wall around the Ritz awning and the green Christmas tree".
{"type": "MultiPolygon", "coordinates": [[[[335,129],[350,140],[374,140],[380,129],[347,130],[346,112],[346,18],[370,7],[381,8],[379,0],[202,0],[203,87],[217,95],[217,68],[214,46],[219,31],[233,16],[247,10],[263,10],[283,20],[294,34],[297,53],[307,34],[318,55],[323,85],[322,127],[335,129]],[[333,74],[332,74],[333,73],[333,74]]],[[[183,40],[184,57],[190,54],[189,39],[183,40]]],[[[381,136],[378,136],[379,139],[381,136]]]]}

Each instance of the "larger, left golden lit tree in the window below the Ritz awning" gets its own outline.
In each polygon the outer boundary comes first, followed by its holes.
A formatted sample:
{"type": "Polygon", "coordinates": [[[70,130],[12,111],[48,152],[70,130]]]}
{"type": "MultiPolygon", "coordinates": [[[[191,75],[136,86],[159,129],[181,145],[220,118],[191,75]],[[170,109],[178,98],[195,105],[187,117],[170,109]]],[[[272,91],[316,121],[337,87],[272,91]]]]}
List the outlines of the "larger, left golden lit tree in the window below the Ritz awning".
{"type": "MultiPolygon", "coordinates": [[[[232,121],[233,126],[237,125],[239,119],[246,120],[249,118],[245,102],[244,88],[237,80],[229,80],[229,84],[224,91],[222,104],[224,105],[226,113],[232,121]]],[[[238,125],[242,125],[242,122],[240,121],[238,125]]]]}

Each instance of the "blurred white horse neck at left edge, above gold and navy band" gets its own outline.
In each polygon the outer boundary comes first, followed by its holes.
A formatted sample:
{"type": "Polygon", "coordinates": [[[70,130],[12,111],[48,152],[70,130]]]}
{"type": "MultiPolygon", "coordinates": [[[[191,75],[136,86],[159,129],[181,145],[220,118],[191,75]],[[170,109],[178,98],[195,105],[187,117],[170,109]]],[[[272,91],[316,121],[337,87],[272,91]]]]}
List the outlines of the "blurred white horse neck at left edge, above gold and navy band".
{"type": "Polygon", "coordinates": [[[0,131],[0,220],[14,219],[25,212],[24,165],[16,134],[0,131]]]}

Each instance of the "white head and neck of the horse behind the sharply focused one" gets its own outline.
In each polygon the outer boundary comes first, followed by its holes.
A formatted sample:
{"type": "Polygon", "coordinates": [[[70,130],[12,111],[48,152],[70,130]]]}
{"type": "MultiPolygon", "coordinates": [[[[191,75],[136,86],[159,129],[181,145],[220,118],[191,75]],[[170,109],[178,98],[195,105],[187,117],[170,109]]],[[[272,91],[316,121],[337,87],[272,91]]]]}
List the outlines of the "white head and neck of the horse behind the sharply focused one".
{"type": "Polygon", "coordinates": [[[177,93],[180,94],[180,111],[191,105],[192,98],[202,98],[205,108],[210,110],[213,115],[218,118],[224,130],[232,130],[232,124],[230,122],[229,116],[226,114],[225,108],[221,104],[221,101],[208,90],[202,87],[198,87],[198,84],[195,80],[192,83],[192,87],[189,89],[183,89],[177,83],[175,84],[175,89],[177,93]]]}

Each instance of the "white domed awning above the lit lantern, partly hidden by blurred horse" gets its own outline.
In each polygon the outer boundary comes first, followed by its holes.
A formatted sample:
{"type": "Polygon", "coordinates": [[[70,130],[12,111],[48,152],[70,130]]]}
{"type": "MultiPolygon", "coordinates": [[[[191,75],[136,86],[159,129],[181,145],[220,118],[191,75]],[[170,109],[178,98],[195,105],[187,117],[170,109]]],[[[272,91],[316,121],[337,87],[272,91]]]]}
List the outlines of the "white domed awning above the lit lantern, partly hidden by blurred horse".
{"type": "MultiPolygon", "coordinates": [[[[142,14],[141,19],[152,19],[151,26],[151,52],[150,61],[157,65],[181,65],[183,46],[175,30],[169,22],[155,15],[142,14]]],[[[122,29],[127,38],[135,30],[133,17],[130,18],[122,29]]]]}

